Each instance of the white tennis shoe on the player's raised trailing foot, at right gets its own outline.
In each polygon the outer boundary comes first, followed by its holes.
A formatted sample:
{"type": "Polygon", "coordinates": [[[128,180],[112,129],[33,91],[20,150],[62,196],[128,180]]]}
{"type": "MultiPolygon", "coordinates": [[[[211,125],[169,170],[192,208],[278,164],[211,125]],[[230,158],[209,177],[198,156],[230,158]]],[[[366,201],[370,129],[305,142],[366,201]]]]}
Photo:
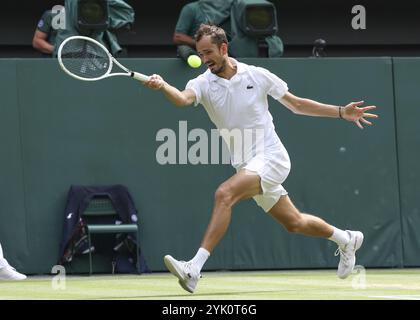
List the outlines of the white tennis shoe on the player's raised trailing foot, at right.
{"type": "Polygon", "coordinates": [[[340,279],[347,278],[353,271],[356,264],[356,251],[362,246],[363,233],[360,231],[346,230],[349,234],[350,241],[344,247],[338,247],[335,256],[340,255],[340,263],[338,264],[337,276],[340,279]]]}

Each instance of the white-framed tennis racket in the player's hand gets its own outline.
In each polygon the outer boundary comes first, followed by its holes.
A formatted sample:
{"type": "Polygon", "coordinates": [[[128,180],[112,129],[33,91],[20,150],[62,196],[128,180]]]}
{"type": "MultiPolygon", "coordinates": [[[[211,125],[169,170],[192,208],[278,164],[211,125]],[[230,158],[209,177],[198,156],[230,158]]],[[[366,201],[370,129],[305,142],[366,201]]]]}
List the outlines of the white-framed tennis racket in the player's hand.
{"type": "Polygon", "coordinates": [[[148,76],[131,71],[115,59],[98,41],[84,36],[65,39],[58,48],[58,62],[68,75],[83,81],[97,81],[109,77],[124,76],[147,81],[148,76]],[[113,65],[124,72],[112,72],[113,65]]]}

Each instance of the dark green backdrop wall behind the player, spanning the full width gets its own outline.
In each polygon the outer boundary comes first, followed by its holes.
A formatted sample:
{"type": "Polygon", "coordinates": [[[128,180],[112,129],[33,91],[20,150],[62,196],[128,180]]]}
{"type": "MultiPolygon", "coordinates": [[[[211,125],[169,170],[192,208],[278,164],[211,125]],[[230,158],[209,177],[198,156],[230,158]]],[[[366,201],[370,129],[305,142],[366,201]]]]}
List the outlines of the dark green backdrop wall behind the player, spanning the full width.
{"type": "MultiPolygon", "coordinates": [[[[380,118],[364,130],[337,119],[292,114],[270,98],[289,151],[285,182],[304,212],[365,233],[358,264],[419,266],[420,59],[248,59],[283,78],[290,91],[319,101],[365,100],[380,118]],[[416,116],[417,115],[417,116],[416,116]]],[[[125,60],[183,88],[204,71],[177,59],[125,60]]],[[[67,191],[72,184],[124,184],[139,210],[149,266],[189,259],[210,218],[229,165],[159,165],[162,128],[213,125],[202,107],[179,109],[159,92],[126,78],[85,83],[55,60],[0,60],[0,243],[26,273],[48,273],[58,259],[67,191]]],[[[335,268],[335,245],[288,234],[253,200],[234,208],[226,237],[207,269],[335,268]]]]}

